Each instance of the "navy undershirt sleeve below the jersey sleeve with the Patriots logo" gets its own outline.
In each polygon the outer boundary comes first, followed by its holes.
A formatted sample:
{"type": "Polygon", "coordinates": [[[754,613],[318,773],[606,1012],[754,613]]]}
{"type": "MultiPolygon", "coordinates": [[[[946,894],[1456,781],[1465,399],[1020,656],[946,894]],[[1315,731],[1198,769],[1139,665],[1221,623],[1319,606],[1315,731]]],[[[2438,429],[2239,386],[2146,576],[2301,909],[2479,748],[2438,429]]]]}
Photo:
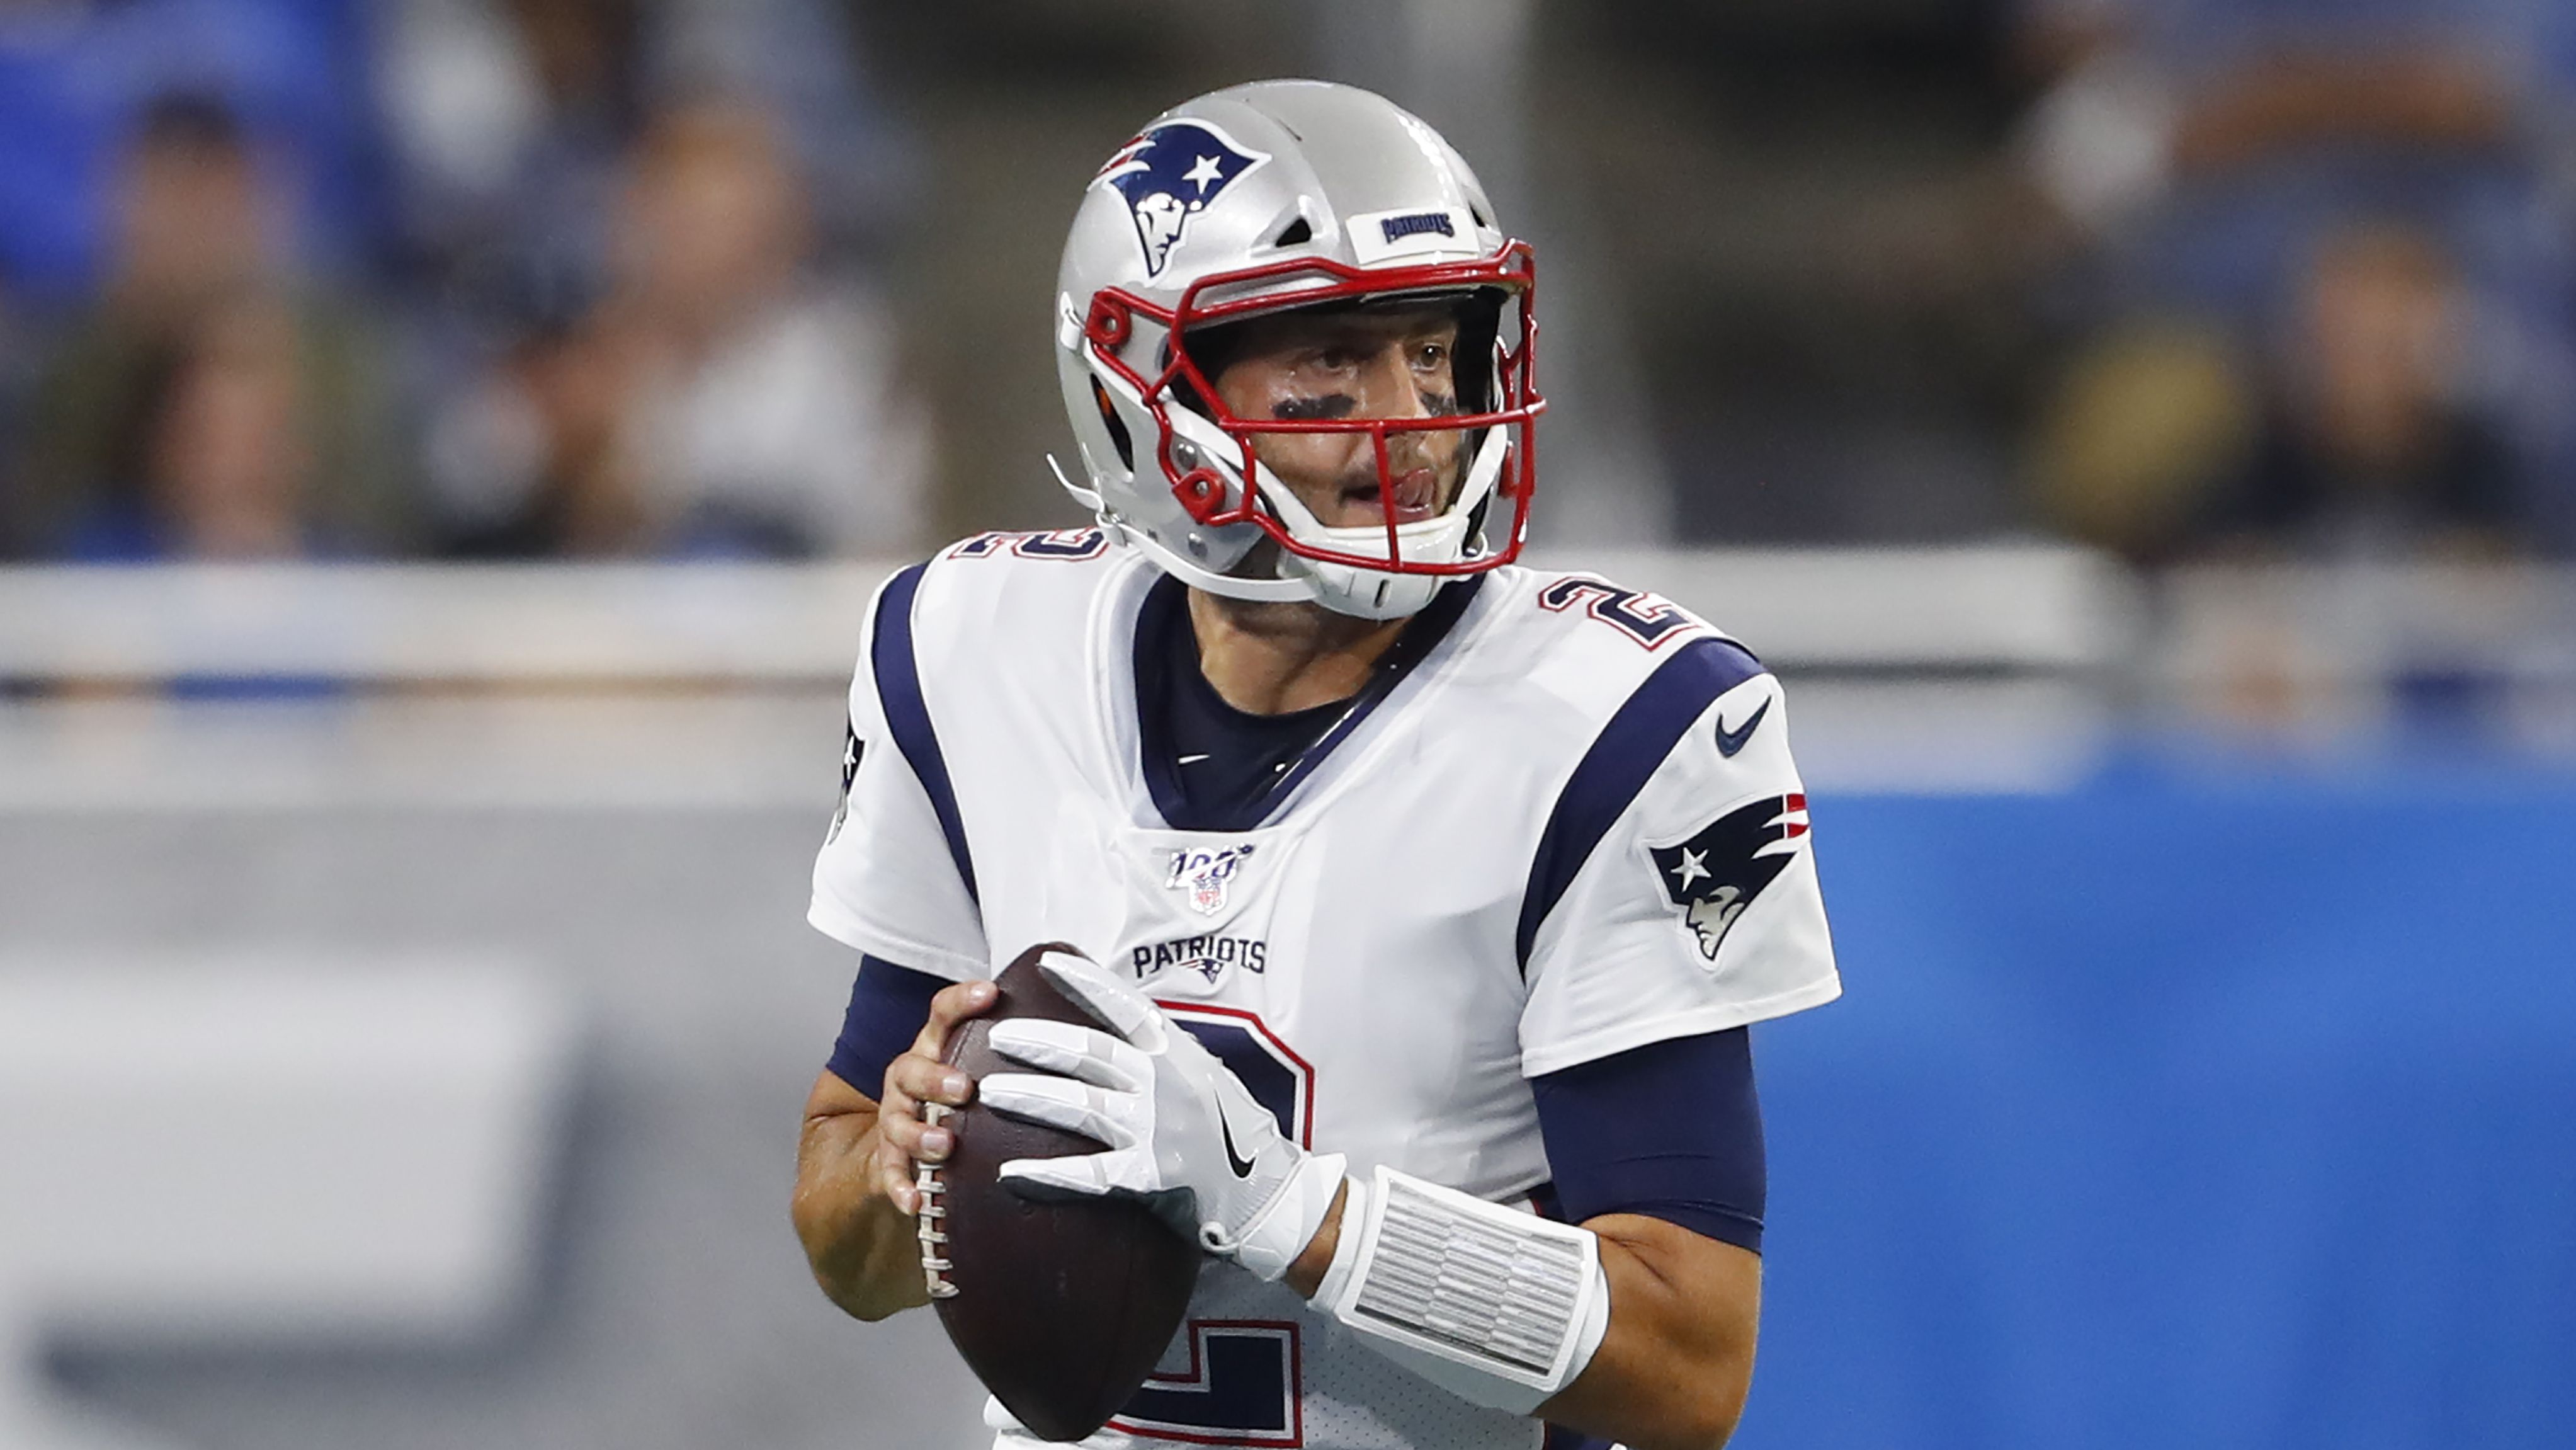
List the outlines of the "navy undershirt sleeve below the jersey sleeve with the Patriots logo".
{"type": "Polygon", "coordinates": [[[1643,1213],[1762,1252],[1752,1033],[1646,1043],[1530,1079],[1566,1223],[1643,1213]]]}

